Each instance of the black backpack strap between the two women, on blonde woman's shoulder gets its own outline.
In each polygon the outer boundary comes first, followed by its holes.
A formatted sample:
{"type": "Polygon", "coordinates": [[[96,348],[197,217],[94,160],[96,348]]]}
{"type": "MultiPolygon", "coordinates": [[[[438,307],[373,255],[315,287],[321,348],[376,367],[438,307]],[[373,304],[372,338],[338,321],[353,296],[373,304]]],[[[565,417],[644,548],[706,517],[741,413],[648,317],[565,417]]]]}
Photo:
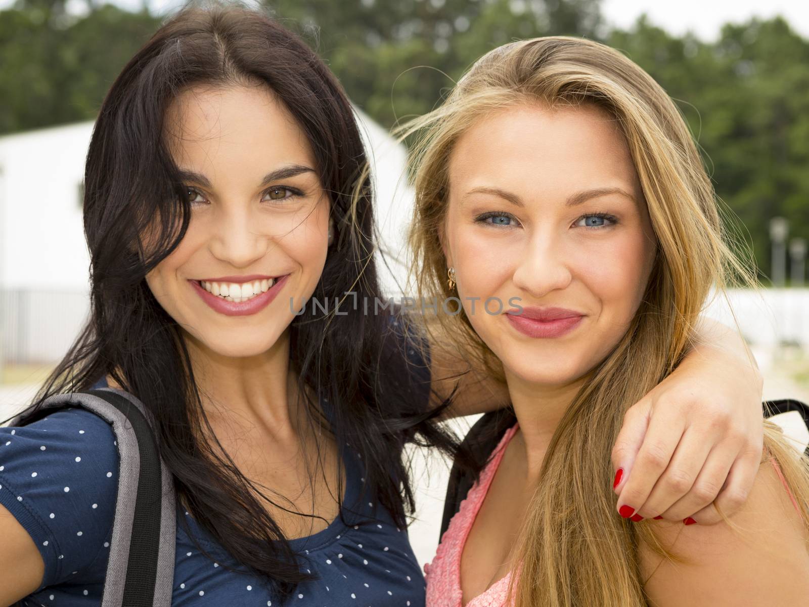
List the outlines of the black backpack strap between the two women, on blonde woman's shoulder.
{"type": "Polygon", "coordinates": [[[439,540],[450,526],[450,520],[460,509],[460,503],[466,499],[472,485],[477,481],[480,470],[489,461],[489,456],[498,446],[506,430],[517,422],[511,410],[491,411],[475,422],[464,437],[462,445],[467,447],[476,460],[477,470],[468,470],[452,463],[450,480],[447,484],[447,497],[444,499],[444,514],[441,520],[439,540]]]}

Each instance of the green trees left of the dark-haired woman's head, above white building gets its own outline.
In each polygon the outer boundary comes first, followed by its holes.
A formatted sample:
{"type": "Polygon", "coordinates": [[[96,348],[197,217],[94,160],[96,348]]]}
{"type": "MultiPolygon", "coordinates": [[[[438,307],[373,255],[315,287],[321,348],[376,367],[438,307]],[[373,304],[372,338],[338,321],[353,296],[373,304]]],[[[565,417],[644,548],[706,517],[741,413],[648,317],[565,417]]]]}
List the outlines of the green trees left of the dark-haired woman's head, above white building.
{"type": "Polygon", "coordinates": [[[112,5],[26,0],[0,11],[0,133],[92,120],[160,19],[112,5]]]}

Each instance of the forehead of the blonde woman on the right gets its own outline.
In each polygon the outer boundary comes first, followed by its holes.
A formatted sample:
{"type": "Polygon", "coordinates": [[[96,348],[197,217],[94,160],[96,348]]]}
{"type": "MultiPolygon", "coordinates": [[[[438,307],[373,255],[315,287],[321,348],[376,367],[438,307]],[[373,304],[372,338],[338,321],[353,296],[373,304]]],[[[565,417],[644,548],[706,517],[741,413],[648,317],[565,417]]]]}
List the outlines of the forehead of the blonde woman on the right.
{"type": "Polygon", "coordinates": [[[479,185],[566,196],[617,186],[633,191],[635,172],[620,125],[594,105],[521,104],[490,113],[455,143],[451,191],[479,185]]]}

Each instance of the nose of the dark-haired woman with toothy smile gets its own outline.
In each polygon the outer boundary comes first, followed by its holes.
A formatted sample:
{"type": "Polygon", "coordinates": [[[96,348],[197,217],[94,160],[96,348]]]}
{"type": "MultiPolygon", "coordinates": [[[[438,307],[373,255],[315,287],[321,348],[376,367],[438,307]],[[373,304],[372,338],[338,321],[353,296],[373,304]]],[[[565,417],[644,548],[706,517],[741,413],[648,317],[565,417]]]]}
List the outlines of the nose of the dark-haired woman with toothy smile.
{"type": "Polygon", "coordinates": [[[222,205],[210,240],[210,252],[220,261],[246,268],[264,257],[270,238],[256,230],[260,221],[246,204],[222,205]]]}

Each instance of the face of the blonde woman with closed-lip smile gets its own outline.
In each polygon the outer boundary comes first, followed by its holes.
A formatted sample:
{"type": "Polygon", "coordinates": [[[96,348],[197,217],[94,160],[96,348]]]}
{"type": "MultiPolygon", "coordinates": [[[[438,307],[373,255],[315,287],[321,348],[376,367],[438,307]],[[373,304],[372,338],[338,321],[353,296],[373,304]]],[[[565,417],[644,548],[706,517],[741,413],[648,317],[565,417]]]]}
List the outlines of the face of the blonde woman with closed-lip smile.
{"type": "Polygon", "coordinates": [[[464,132],[448,171],[447,265],[506,377],[561,386],[586,375],[625,333],[654,262],[616,121],[594,106],[506,108],[464,132]],[[489,298],[502,313],[485,311],[489,298]],[[567,320],[547,320],[549,308],[567,320]]]}

